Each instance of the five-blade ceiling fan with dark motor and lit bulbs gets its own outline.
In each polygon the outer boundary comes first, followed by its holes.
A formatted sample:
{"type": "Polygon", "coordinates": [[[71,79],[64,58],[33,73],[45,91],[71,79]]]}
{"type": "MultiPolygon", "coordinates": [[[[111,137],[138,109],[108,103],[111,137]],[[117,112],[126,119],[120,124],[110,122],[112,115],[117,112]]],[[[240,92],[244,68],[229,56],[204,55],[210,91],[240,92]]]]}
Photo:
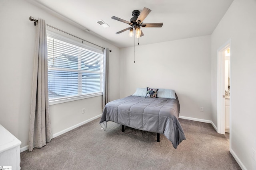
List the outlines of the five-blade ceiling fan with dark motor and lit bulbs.
{"type": "Polygon", "coordinates": [[[142,23],[142,21],[148,16],[148,14],[151,12],[150,9],[148,8],[143,8],[142,12],[140,13],[139,10],[134,10],[132,11],[132,18],[130,19],[130,21],[126,21],[123,20],[121,18],[112,16],[111,18],[117,21],[121,21],[124,23],[127,23],[128,25],[130,25],[130,27],[123,29],[121,31],[116,32],[117,34],[122,33],[126,30],[130,30],[129,31],[129,37],[133,36],[133,32],[136,31],[135,37],[136,38],[140,38],[142,37],[144,34],[141,31],[140,27],[162,27],[163,23],[142,23]]]}

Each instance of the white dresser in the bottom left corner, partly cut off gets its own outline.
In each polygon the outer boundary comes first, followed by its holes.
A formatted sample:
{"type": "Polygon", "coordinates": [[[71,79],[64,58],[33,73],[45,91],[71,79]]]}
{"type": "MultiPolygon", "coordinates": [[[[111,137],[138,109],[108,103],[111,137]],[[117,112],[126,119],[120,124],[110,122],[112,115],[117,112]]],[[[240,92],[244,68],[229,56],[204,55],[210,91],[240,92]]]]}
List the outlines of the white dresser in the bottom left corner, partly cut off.
{"type": "Polygon", "coordinates": [[[0,125],[0,166],[20,170],[20,144],[20,140],[0,125]]]}

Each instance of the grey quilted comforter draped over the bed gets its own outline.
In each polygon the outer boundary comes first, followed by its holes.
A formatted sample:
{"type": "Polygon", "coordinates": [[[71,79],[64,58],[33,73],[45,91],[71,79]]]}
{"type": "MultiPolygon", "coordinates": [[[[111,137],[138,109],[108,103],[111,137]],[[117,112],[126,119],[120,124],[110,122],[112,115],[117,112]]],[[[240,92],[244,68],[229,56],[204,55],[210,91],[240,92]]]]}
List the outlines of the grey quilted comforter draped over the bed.
{"type": "Polygon", "coordinates": [[[128,96],[106,104],[100,125],[106,130],[107,122],[113,121],[134,129],[161,133],[176,149],[181,141],[186,139],[178,121],[179,113],[178,98],[128,96]]]}

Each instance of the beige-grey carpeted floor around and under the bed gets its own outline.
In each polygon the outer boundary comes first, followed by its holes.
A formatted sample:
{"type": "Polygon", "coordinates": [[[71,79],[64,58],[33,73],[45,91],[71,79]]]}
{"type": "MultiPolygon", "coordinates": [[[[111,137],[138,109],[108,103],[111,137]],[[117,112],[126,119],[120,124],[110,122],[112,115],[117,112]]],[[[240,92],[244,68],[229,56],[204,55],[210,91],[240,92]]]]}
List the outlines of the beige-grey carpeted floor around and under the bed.
{"type": "Polygon", "coordinates": [[[166,137],[99,119],[21,153],[22,170],[240,170],[225,135],[209,123],[179,119],[186,135],[177,149],[166,137]]]}

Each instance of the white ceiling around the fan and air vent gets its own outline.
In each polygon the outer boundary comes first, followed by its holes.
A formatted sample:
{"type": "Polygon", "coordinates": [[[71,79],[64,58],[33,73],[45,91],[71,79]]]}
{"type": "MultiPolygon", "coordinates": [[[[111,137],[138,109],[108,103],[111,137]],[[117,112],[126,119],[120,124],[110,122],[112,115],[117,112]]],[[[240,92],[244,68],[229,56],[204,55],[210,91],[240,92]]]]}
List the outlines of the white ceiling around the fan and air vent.
{"type": "MultiPolygon", "coordinates": [[[[210,35],[222,19],[233,0],[30,0],[69,20],[82,25],[117,47],[134,46],[134,37],[128,31],[116,32],[128,24],[111,19],[116,16],[126,21],[133,10],[144,7],[152,12],[143,23],[163,22],[161,28],[142,27],[140,45],[210,35]],[[102,27],[103,20],[110,27],[102,27]]],[[[35,4],[35,3],[33,3],[35,4]]],[[[60,28],[61,29],[61,28],[60,28]]],[[[136,39],[136,42],[138,40],[136,39]]]]}

